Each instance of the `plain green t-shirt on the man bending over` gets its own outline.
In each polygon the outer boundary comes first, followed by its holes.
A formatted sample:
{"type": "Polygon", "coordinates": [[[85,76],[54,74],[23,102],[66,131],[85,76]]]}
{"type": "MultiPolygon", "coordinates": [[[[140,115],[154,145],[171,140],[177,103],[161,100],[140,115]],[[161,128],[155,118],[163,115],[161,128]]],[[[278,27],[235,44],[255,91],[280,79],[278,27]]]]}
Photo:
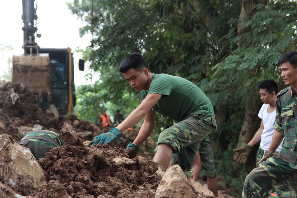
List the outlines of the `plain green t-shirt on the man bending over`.
{"type": "Polygon", "coordinates": [[[194,83],[182,77],[168,74],[153,74],[149,91],[142,90],[142,100],[148,94],[162,94],[152,110],[172,118],[175,122],[184,120],[192,113],[214,116],[208,97],[194,83]]]}

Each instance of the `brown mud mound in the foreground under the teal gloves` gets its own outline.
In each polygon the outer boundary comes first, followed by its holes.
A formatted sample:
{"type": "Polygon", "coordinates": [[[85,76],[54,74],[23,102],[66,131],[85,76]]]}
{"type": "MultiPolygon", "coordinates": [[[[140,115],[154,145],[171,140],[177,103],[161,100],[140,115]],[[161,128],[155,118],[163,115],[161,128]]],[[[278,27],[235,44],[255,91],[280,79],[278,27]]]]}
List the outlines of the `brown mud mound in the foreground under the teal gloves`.
{"type": "MultiPolygon", "coordinates": [[[[65,123],[60,137],[67,142],[72,131],[75,128],[65,123]]],[[[70,142],[73,143],[73,140],[70,142]]],[[[50,180],[60,183],[52,187],[59,186],[71,197],[154,197],[162,179],[157,174],[158,164],[151,159],[140,156],[129,159],[125,149],[111,148],[109,145],[86,147],[80,138],[74,144],[67,142],[62,147],[52,149],[47,155],[46,159],[38,162],[50,180]]],[[[53,190],[49,186],[42,189],[43,194],[56,197],[45,193],[53,190]]],[[[38,194],[35,196],[42,197],[38,194]]]]}

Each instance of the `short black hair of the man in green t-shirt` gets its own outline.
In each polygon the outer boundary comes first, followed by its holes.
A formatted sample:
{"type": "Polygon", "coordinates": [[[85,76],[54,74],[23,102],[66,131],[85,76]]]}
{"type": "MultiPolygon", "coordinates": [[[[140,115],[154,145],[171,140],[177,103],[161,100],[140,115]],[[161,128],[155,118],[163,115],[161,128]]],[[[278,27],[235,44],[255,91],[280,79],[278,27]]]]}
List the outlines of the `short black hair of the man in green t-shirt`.
{"type": "Polygon", "coordinates": [[[147,68],[149,70],[146,60],[140,53],[134,52],[124,58],[121,62],[119,72],[125,73],[129,69],[135,69],[136,71],[141,72],[143,68],[147,68]]]}

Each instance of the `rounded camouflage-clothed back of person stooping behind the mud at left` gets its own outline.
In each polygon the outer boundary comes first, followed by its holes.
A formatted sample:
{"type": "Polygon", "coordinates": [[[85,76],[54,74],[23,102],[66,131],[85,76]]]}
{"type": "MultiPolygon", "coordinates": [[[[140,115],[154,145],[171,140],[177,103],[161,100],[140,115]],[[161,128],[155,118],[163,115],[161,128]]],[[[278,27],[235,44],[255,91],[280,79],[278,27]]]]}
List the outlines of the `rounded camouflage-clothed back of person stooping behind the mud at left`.
{"type": "Polygon", "coordinates": [[[36,159],[46,158],[45,153],[64,144],[65,142],[58,134],[46,130],[27,132],[25,137],[20,140],[20,145],[29,148],[36,159]]]}

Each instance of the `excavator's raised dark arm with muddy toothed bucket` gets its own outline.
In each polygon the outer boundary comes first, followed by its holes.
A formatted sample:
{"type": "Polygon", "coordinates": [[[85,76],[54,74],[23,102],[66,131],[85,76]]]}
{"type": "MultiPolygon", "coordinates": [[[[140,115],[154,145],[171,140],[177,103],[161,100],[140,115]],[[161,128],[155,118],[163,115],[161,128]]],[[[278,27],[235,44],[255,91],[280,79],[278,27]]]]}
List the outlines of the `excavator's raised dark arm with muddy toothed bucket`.
{"type": "MultiPolygon", "coordinates": [[[[12,82],[23,83],[26,91],[37,95],[38,101],[43,100],[43,94],[47,94],[51,100],[52,85],[50,78],[50,57],[48,53],[39,54],[39,46],[35,42],[36,6],[35,0],[22,0],[23,3],[23,31],[24,31],[24,54],[12,56],[12,82]]],[[[36,1],[37,2],[37,1],[36,1]]],[[[37,34],[41,37],[41,34],[37,34]]]]}

